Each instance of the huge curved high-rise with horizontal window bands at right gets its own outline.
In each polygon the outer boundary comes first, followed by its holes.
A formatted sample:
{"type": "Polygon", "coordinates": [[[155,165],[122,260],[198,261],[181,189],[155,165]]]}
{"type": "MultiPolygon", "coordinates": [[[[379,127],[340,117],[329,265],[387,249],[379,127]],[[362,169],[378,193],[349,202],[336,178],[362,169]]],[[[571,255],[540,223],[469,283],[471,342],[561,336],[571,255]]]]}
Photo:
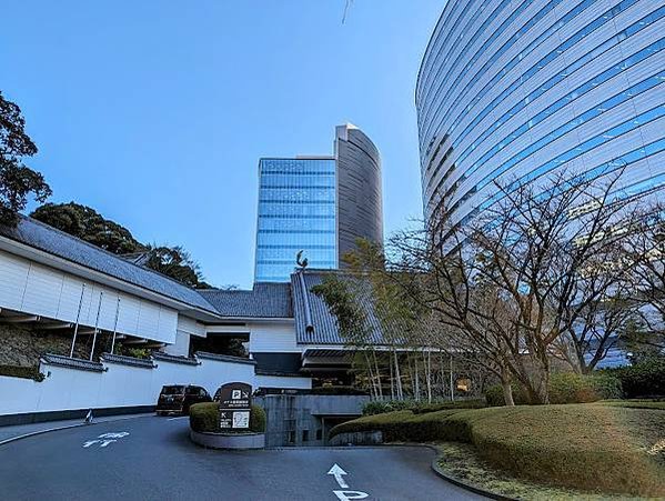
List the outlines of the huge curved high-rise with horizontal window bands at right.
{"type": "Polygon", "coordinates": [[[425,218],[464,222],[495,181],[557,169],[662,187],[664,18],[663,0],[449,1],[416,84],[425,218]]]}

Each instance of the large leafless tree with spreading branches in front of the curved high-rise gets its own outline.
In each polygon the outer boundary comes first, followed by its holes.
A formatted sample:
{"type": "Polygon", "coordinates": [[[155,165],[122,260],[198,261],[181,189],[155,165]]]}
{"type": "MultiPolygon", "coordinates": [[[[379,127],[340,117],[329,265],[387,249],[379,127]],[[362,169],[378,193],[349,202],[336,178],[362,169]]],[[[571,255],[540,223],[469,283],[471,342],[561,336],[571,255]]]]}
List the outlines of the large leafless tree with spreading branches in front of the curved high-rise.
{"type": "MultiPolygon", "coordinates": [[[[449,349],[484,360],[500,375],[506,402],[512,379],[534,403],[548,402],[561,345],[572,344],[580,363],[603,322],[614,329],[623,321],[608,314],[606,302],[618,304],[629,284],[623,241],[634,210],[618,201],[621,174],[603,184],[561,172],[540,184],[497,186],[471,223],[455,224],[442,210],[424,233],[392,240],[397,258],[391,268],[410,271],[401,277],[421,284],[415,297],[446,327],[449,349]],[[581,333],[584,321],[594,323],[581,333]]],[[[592,354],[592,367],[608,339],[592,354]]]]}

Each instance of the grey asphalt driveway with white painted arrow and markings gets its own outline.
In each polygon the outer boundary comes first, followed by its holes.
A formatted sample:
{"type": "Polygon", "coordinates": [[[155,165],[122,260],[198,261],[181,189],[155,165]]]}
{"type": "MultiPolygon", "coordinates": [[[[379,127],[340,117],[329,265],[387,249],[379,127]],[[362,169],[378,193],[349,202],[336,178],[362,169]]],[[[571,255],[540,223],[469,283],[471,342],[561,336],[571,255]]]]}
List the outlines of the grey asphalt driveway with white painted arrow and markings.
{"type": "Polygon", "coordinates": [[[191,443],[188,430],[187,419],[147,417],[0,445],[0,498],[481,499],[436,477],[426,448],[214,451],[191,443]]]}

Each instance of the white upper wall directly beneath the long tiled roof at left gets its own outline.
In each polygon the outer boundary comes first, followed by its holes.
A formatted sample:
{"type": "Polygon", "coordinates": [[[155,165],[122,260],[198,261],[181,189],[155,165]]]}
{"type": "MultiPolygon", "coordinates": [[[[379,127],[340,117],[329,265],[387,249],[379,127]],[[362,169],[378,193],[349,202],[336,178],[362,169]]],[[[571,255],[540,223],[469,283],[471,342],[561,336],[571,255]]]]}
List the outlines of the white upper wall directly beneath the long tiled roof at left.
{"type": "MultiPolygon", "coordinates": [[[[94,327],[99,309],[99,327],[112,331],[118,299],[118,332],[169,344],[175,342],[179,324],[175,310],[0,251],[0,309],[75,322],[81,303],[82,325],[94,327]],[[87,287],[81,302],[83,283],[87,287]]],[[[198,331],[195,323],[182,322],[198,331]]]]}

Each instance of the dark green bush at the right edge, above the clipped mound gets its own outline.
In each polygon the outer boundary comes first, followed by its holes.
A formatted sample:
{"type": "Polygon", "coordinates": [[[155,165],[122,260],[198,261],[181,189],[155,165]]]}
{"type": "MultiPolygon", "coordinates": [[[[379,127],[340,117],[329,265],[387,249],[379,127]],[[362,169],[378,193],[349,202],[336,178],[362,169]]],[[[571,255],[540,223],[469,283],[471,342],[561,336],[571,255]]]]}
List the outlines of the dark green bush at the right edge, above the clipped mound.
{"type": "Polygon", "coordinates": [[[634,365],[605,369],[608,375],[618,378],[626,398],[665,397],[665,355],[654,355],[634,365]]]}

